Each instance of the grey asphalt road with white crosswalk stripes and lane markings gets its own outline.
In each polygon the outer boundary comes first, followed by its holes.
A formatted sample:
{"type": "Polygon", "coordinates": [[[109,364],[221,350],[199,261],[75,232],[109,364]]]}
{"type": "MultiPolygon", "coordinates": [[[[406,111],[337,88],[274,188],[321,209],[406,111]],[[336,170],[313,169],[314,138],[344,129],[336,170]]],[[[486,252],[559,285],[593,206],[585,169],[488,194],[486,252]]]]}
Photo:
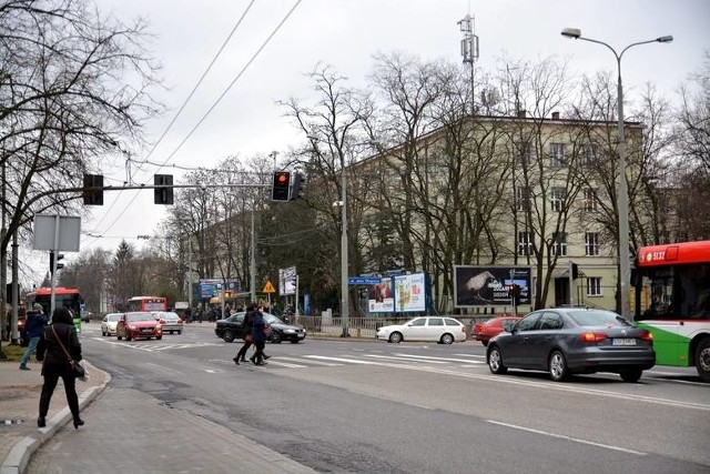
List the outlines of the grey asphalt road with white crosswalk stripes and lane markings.
{"type": "MultiPolygon", "coordinates": [[[[613,374],[554,383],[544,373],[490,374],[475,342],[313,339],[267,345],[266,366],[236,366],[241,344],[206,327],[126,343],[98,326],[84,327],[82,344],[112,386],[318,472],[710,471],[710,385],[689,369],[658,367],[638,384],[613,374]]],[[[209,440],[195,443],[211,455],[209,440]]]]}

